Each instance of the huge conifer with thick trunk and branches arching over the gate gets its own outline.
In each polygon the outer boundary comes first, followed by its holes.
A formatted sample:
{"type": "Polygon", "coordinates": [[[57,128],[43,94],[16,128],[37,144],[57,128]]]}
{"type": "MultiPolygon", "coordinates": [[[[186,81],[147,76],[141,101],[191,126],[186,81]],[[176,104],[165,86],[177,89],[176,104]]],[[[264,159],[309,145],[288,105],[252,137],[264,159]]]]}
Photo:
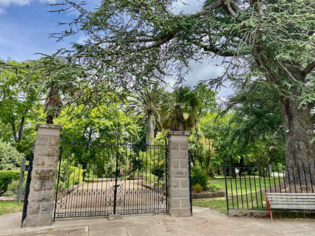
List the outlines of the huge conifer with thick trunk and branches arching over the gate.
{"type": "Polygon", "coordinates": [[[57,12],[77,10],[78,16],[70,29],[52,36],[62,40],[79,31],[89,36],[53,58],[85,71],[81,81],[99,94],[113,87],[137,89],[152,75],[171,75],[170,70],[181,83],[190,59],[226,57],[226,73],[208,84],[260,81],[274,89],[286,163],[313,163],[315,2],[207,0],[200,12],[178,15],[171,11],[173,2],[103,0],[93,12],[69,0],[54,4],[62,7],[57,12]]]}

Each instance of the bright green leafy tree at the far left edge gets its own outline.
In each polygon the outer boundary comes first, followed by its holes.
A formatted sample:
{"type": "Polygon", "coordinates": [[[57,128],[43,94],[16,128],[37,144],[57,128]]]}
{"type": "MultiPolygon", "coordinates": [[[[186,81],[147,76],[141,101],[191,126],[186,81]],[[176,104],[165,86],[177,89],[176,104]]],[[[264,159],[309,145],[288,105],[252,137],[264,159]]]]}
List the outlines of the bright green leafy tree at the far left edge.
{"type": "MultiPolygon", "coordinates": [[[[40,95],[36,89],[27,89],[36,83],[38,76],[28,77],[29,69],[21,69],[26,63],[7,61],[7,64],[15,68],[0,68],[0,120],[3,125],[11,126],[11,134],[7,142],[14,140],[20,143],[28,124],[28,119],[38,118],[40,107],[40,95]]],[[[4,129],[5,126],[2,126],[4,129]]],[[[2,129],[1,129],[2,130],[2,129]]],[[[4,134],[3,134],[4,135],[4,134]]],[[[4,135],[5,136],[5,135],[4,135]]]]}

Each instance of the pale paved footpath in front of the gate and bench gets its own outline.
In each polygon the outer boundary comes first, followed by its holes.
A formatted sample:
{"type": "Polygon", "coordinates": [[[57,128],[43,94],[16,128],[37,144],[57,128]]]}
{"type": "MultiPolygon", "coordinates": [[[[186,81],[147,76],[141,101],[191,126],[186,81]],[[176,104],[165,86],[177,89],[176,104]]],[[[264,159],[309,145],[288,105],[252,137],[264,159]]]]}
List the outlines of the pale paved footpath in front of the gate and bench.
{"type": "Polygon", "coordinates": [[[218,211],[193,207],[193,216],[166,214],[56,219],[51,227],[20,228],[21,212],[0,216],[0,235],[10,236],[315,236],[315,220],[227,218],[218,211]]]}

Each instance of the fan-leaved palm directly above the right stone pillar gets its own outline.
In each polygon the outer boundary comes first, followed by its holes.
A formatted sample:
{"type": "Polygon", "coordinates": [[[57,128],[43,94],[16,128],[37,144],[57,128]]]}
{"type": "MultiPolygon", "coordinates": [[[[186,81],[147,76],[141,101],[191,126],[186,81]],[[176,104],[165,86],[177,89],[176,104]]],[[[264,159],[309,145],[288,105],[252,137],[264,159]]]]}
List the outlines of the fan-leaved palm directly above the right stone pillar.
{"type": "Polygon", "coordinates": [[[173,131],[187,131],[194,127],[199,118],[201,102],[190,86],[183,86],[173,92],[162,127],[173,131]]]}

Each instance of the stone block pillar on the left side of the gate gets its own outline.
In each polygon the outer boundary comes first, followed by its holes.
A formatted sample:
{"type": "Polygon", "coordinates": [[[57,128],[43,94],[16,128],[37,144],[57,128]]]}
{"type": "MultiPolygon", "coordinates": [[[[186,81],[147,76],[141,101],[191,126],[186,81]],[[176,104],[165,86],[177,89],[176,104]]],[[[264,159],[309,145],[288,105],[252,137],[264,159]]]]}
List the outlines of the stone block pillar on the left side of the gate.
{"type": "Polygon", "coordinates": [[[33,169],[25,227],[49,226],[53,220],[60,131],[63,125],[36,124],[33,169]]]}

